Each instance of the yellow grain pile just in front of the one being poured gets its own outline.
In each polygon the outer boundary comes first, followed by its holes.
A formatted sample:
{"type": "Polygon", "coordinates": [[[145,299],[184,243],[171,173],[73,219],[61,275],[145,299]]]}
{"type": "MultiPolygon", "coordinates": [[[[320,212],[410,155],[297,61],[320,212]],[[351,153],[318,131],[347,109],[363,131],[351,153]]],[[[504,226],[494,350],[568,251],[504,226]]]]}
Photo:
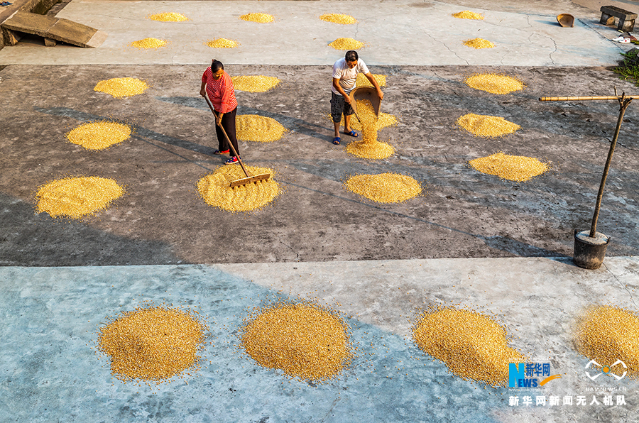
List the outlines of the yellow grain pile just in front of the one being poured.
{"type": "Polygon", "coordinates": [[[410,176],[397,173],[355,175],[349,177],[344,188],[378,203],[400,203],[422,192],[420,183],[410,176]]]}

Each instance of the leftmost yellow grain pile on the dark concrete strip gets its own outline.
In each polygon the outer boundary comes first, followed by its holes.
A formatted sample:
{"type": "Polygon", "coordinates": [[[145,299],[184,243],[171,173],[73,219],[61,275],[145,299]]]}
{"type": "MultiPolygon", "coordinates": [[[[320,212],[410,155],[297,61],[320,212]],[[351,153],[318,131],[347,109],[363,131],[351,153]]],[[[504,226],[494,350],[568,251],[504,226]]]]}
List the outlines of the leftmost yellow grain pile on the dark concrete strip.
{"type": "Polygon", "coordinates": [[[80,219],[105,209],[111,202],[124,195],[124,188],[104,177],[65,177],[53,180],[38,188],[38,213],[51,217],[80,219]]]}

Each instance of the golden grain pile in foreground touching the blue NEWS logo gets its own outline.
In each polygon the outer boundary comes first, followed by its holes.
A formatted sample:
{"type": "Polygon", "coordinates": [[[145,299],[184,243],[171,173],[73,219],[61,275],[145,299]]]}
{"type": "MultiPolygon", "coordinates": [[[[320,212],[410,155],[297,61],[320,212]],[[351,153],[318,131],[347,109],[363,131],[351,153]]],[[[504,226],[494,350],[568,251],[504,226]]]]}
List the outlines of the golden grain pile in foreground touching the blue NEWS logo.
{"type": "Polygon", "coordinates": [[[463,309],[430,309],[413,326],[415,344],[464,379],[508,384],[508,363],[525,357],[508,346],[506,329],[490,317],[463,309]]]}

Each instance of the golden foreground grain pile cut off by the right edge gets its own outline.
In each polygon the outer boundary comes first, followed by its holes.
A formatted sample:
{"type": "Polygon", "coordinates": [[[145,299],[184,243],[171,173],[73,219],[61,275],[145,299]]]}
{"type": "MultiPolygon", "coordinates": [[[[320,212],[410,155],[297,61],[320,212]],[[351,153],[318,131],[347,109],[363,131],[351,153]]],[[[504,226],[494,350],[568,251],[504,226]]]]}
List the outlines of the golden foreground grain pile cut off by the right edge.
{"type": "Polygon", "coordinates": [[[630,377],[639,377],[639,316],[636,312],[612,306],[589,307],[579,319],[574,344],[581,355],[607,366],[612,373],[621,376],[627,370],[630,377]],[[621,364],[613,366],[617,360],[628,368],[621,364]]]}

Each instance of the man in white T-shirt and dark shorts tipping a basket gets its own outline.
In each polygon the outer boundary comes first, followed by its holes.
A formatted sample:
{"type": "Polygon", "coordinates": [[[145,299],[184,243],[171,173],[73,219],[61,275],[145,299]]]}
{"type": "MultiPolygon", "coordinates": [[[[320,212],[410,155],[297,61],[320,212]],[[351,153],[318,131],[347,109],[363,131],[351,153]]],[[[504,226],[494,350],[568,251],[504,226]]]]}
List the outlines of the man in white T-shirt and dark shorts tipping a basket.
{"type": "Polygon", "coordinates": [[[379,99],[384,98],[383,92],[379,88],[379,84],[373,74],[368,71],[364,60],[359,59],[355,50],[349,50],[343,59],[337,60],[333,65],[333,84],[331,87],[331,116],[335,126],[334,144],[339,144],[342,139],[339,138],[339,122],[344,114],[344,133],[346,135],[357,137],[358,134],[351,130],[351,115],[354,113],[351,107],[351,98],[349,94],[355,88],[357,74],[363,73],[366,78],[373,84],[377,90],[379,99]]]}

